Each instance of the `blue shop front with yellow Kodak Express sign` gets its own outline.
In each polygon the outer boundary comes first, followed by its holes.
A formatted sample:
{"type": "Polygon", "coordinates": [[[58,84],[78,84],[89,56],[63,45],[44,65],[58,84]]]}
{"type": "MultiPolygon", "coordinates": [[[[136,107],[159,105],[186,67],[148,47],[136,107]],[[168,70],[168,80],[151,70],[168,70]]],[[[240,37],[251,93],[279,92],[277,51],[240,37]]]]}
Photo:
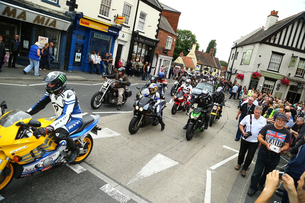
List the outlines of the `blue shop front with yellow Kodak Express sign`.
{"type": "MultiPolygon", "coordinates": [[[[90,56],[93,51],[99,52],[101,57],[105,52],[113,54],[115,40],[121,29],[121,26],[113,26],[77,14],[72,31],[68,71],[89,72],[90,56]]],[[[93,72],[95,71],[96,67],[93,72]]]]}

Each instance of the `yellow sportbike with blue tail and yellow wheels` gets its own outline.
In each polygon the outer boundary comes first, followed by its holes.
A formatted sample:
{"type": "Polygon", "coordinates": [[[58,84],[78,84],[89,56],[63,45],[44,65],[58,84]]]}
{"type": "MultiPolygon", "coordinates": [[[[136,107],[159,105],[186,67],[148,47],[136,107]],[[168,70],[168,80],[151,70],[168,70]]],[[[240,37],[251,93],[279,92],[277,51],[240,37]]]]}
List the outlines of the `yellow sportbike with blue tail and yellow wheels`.
{"type": "MultiPolygon", "coordinates": [[[[1,103],[2,116],[0,117],[0,191],[13,178],[22,178],[36,175],[57,166],[66,164],[70,155],[66,141],[56,143],[52,134],[35,137],[33,131],[39,127],[46,127],[55,119],[52,117],[38,120],[19,110],[5,113],[6,103],[1,103]]],[[[93,139],[90,135],[101,128],[96,124],[99,115],[85,115],[82,125],[71,138],[80,148],[77,159],[72,164],[83,162],[90,154],[93,139]]],[[[56,133],[56,131],[55,131],[56,133]]]]}

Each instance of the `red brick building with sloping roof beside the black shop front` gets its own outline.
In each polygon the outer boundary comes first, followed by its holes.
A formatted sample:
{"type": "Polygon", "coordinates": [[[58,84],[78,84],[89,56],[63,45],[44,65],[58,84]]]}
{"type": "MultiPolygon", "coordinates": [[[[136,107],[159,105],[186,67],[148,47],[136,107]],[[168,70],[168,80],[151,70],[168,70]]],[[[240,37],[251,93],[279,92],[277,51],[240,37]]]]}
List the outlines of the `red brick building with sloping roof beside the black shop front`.
{"type": "MultiPolygon", "coordinates": [[[[163,7],[162,16],[160,18],[158,39],[155,55],[156,61],[152,65],[156,66],[154,75],[158,74],[160,67],[165,65],[168,71],[173,59],[174,49],[177,40],[177,26],[181,12],[161,4],[163,7]],[[163,15],[164,14],[164,15],[163,15]]],[[[155,58],[155,57],[154,57],[155,58]]]]}

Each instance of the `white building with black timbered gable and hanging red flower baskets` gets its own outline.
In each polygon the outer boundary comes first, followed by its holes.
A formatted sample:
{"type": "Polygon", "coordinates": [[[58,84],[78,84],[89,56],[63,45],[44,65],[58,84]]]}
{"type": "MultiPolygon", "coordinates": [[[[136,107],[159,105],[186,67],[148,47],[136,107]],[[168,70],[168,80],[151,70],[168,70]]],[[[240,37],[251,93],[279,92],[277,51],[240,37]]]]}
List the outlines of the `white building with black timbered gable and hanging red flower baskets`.
{"type": "Polygon", "coordinates": [[[305,100],[305,12],[278,21],[271,11],[265,26],[236,40],[228,61],[226,79],[238,80],[247,89],[254,87],[291,103],[305,100]],[[259,72],[260,79],[252,79],[259,72]],[[281,84],[288,79],[289,85],[281,84]]]}

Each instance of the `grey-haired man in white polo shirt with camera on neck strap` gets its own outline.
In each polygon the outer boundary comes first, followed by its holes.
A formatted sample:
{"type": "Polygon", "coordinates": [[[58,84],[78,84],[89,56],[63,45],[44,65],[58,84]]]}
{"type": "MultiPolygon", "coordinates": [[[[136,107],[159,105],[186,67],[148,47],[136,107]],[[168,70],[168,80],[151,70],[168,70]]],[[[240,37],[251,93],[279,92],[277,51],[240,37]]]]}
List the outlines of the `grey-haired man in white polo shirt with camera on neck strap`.
{"type": "Polygon", "coordinates": [[[257,136],[260,130],[267,124],[266,119],[261,116],[262,113],[263,107],[255,106],[254,114],[247,115],[239,123],[239,129],[242,132],[243,136],[240,142],[238,160],[237,165],[235,166],[235,170],[239,170],[242,163],[244,163],[241,170],[242,176],[246,176],[246,170],[251,164],[256,149],[259,145],[259,142],[257,141],[257,136]],[[246,127],[244,128],[245,125],[246,127]],[[244,162],[244,158],[247,151],[248,153],[244,162]]]}

